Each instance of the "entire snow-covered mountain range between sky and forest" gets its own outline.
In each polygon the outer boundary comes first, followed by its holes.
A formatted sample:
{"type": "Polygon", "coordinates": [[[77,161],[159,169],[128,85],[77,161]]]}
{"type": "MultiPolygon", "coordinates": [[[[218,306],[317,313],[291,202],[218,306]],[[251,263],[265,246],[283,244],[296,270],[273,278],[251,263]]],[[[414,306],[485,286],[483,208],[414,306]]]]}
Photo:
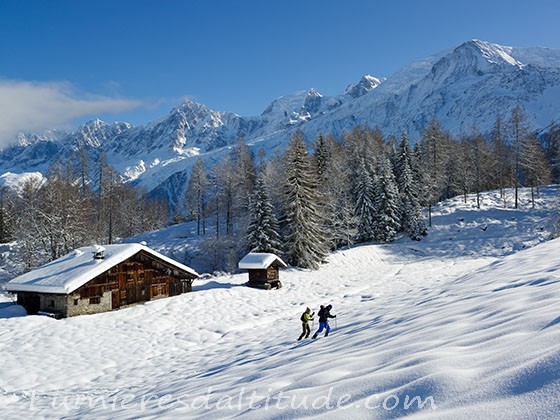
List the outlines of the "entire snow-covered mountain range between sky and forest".
{"type": "Polygon", "coordinates": [[[190,100],[143,126],[95,120],[73,133],[21,135],[0,152],[0,174],[43,172],[54,160],[85,148],[103,153],[130,182],[178,203],[195,157],[210,167],[243,137],[253,149],[282,151],[295,130],[307,139],[340,136],[357,124],[386,135],[403,130],[415,141],[434,116],[454,134],[488,132],[497,113],[521,106],[535,130],[560,119],[560,51],[512,48],[472,40],[415,61],[380,79],[366,75],[338,96],[315,89],[275,99],[259,116],[213,111],[190,100]]]}

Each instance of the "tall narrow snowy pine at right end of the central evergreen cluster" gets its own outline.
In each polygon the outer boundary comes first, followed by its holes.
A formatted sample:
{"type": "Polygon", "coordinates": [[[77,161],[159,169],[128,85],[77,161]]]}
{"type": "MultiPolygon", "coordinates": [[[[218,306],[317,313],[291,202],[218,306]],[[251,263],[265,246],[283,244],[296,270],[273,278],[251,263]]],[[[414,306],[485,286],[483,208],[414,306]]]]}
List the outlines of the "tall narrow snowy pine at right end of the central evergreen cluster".
{"type": "Polygon", "coordinates": [[[402,203],[401,228],[415,241],[427,233],[419,201],[419,188],[412,171],[412,156],[406,132],[402,133],[396,157],[396,178],[402,203]]]}

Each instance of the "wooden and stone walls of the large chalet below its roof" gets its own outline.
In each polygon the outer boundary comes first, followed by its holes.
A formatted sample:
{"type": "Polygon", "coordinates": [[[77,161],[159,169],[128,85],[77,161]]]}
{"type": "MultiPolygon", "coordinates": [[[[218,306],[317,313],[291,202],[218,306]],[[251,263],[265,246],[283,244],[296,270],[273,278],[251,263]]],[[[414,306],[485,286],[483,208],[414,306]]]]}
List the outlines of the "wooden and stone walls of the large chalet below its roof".
{"type": "Polygon", "coordinates": [[[140,251],[68,294],[18,291],[27,313],[57,318],[106,312],[192,291],[196,275],[140,251]]]}

